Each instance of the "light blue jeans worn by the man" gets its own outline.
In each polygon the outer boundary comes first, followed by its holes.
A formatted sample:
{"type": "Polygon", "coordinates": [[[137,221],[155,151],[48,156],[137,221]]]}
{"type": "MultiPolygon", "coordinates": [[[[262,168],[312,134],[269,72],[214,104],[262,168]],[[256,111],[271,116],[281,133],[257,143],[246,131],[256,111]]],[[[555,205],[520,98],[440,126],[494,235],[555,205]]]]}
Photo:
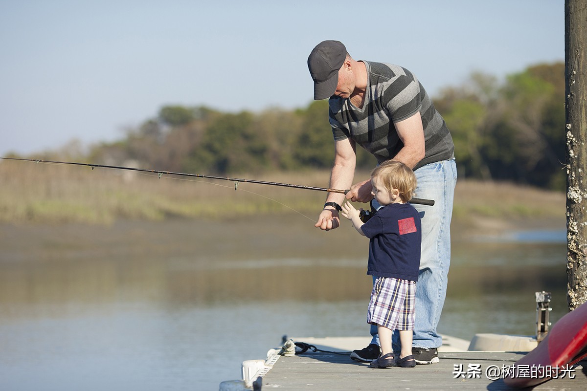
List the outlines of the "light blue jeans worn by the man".
{"type": "MultiPolygon", "coordinates": [[[[434,206],[413,204],[422,217],[422,250],[416,283],[416,328],[412,346],[431,349],[442,345],[442,337],[436,332],[436,327],[446,297],[457,165],[454,159],[444,160],[422,166],[414,173],[418,180],[416,197],[433,199],[434,206]]],[[[371,335],[371,343],[379,345],[376,325],[371,325],[371,335]]],[[[394,332],[393,350],[399,352],[399,346],[399,333],[394,332]]]]}

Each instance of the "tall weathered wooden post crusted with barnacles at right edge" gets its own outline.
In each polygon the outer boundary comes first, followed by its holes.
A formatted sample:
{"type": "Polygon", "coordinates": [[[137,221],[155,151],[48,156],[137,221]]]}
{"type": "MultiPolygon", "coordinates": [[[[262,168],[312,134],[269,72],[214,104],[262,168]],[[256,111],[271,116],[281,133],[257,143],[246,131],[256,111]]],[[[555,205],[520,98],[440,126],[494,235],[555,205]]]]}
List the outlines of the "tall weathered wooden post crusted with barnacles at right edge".
{"type": "Polygon", "coordinates": [[[565,0],[569,311],[587,302],[587,0],[565,0]]]}

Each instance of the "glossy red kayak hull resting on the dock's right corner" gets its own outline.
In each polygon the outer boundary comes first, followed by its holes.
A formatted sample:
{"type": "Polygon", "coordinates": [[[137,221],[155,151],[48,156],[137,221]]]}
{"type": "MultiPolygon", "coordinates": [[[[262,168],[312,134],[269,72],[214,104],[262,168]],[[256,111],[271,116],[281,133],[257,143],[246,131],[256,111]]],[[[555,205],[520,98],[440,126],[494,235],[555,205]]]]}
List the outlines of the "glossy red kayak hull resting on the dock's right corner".
{"type": "Polygon", "coordinates": [[[568,369],[585,357],[587,303],[559,319],[533,351],[515,362],[509,373],[504,375],[504,383],[512,387],[535,386],[557,374],[561,376],[561,370],[568,369]]]}

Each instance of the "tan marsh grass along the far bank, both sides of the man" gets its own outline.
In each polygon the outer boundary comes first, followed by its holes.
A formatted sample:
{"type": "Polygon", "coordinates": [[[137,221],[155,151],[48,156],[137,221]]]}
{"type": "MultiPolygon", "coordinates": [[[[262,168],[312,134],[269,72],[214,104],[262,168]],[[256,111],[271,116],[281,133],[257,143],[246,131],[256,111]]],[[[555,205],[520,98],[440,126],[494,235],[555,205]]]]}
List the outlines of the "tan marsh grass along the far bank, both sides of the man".
{"type": "MultiPolygon", "coordinates": [[[[204,173],[205,174],[205,173],[204,173]]],[[[357,173],[357,181],[367,178],[357,173]]],[[[328,186],[328,171],[239,175],[260,181],[328,186]]],[[[326,193],[86,166],[0,162],[0,222],[110,224],[116,219],[231,218],[301,213],[315,219],[326,193]]],[[[508,183],[460,181],[453,217],[555,217],[563,193],[508,183]]]]}

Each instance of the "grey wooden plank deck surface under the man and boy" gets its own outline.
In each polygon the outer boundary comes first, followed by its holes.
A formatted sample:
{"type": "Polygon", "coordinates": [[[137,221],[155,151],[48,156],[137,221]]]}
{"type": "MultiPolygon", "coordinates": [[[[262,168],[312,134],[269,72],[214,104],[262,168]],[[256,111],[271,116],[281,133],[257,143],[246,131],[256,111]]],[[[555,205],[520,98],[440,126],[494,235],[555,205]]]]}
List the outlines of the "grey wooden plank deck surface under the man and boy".
{"type": "MultiPolygon", "coordinates": [[[[262,389],[281,390],[512,390],[501,370],[524,356],[515,352],[442,352],[440,363],[416,368],[371,369],[334,352],[283,356],[263,378],[262,389]],[[500,370],[488,378],[488,368],[500,370]],[[461,373],[461,376],[458,376],[461,373]]],[[[583,366],[586,363],[583,362],[583,366]]],[[[534,390],[586,391],[587,368],[579,365],[534,390]]]]}

